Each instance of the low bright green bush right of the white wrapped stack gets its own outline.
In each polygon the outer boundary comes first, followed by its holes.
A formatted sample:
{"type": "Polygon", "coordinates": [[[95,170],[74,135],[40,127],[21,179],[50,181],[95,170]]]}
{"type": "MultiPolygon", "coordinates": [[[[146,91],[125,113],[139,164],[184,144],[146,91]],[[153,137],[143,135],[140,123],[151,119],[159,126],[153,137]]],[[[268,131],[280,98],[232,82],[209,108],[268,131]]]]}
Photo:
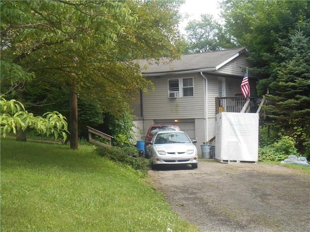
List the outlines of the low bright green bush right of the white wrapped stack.
{"type": "Polygon", "coordinates": [[[282,136],[272,145],[259,147],[259,161],[282,161],[290,155],[296,155],[296,142],[293,137],[282,136]]]}

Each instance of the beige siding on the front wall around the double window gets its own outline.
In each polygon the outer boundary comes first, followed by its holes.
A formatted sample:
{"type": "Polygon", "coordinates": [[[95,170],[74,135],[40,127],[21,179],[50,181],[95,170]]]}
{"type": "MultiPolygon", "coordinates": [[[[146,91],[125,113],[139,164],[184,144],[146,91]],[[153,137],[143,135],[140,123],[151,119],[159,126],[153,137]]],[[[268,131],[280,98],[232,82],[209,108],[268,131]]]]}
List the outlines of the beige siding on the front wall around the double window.
{"type": "Polygon", "coordinates": [[[203,117],[203,79],[198,74],[152,77],[155,90],[143,95],[144,119],[181,119],[203,117]],[[194,78],[194,97],[170,99],[168,79],[194,78]]]}

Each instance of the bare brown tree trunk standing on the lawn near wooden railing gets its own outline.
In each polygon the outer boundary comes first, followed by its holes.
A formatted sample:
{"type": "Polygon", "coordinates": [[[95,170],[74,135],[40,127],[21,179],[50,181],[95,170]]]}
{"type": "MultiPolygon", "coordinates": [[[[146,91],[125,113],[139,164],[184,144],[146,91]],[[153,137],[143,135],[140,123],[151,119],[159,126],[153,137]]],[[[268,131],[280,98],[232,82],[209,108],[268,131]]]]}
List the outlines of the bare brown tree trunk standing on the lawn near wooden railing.
{"type": "Polygon", "coordinates": [[[78,93],[77,82],[70,92],[70,148],[78,150],[78,93]]]}

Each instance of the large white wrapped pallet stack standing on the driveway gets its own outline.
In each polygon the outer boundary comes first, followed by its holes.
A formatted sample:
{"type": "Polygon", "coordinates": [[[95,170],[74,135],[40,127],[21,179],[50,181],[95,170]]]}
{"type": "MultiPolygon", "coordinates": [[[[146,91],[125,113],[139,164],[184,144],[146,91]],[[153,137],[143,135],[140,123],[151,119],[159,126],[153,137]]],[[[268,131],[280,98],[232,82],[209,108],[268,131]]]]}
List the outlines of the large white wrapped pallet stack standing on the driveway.
{"type": "Polygon", "coordinates": [[[229,112],[217,114],[215,159],[225,163],[256,163],[258,128],[258,114],[229,112]]]}

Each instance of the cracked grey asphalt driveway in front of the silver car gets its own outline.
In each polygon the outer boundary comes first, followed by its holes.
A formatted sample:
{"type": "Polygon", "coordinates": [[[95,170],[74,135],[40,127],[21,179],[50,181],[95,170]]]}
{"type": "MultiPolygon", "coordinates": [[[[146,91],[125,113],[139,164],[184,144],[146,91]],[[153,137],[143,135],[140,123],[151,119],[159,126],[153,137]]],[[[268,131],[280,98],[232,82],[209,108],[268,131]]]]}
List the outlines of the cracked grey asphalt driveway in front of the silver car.
{"type": "Polygon", "coordinates": [[[172,210],[202,232],[310,232],[310,174],[265,163],[200,160],[150,170],[172,210]]]}

